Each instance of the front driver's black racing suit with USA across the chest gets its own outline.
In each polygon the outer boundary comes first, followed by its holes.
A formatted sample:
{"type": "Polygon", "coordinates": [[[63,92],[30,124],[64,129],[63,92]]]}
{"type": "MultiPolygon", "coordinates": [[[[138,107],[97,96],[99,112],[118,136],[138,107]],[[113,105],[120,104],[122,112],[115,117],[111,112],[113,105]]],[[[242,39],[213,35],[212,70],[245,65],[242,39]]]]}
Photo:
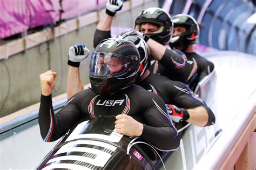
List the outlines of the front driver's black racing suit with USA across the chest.
{"type": "Polygon", "coordinates": [[[131,85],[107,96],[84,90],[73,96],[56,115],[52,109],[51,96],[42,95],[39,110],[42,138],[45,141],[55,141],[82,116],[88,120],[106,114],[142,116],[143,122],[147,125],[143,124],[143,133],[140,138],[164,150],[178,147],[177,132],[167,119],[163,100],[138,85],[131,85]]]}

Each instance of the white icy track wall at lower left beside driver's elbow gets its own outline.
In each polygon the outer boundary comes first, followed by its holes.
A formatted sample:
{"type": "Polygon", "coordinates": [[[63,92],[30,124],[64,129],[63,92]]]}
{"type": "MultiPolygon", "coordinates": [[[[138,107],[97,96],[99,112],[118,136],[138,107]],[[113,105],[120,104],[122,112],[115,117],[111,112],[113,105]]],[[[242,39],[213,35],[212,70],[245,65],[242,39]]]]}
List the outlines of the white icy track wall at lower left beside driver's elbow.
{"type": "Polygon", "coordinates": [[[36,169],[58,143],[44,142],[38,120],[0,135],[0,169],[36,169]]]}

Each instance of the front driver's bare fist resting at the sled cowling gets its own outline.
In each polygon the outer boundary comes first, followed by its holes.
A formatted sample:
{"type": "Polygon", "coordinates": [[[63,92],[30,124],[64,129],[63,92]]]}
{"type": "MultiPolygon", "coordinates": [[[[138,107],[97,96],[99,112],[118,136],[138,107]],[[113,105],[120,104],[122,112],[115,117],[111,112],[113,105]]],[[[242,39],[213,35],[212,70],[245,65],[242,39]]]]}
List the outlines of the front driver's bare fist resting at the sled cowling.
{"type": "Polygon", "coordinates": [[[116,116],[116,121],[114,122],[114,127],[118,133],[122,133],[129,137],[142,135],[143,124],[134,120],[130,115],[119,114],[116,116]]]}

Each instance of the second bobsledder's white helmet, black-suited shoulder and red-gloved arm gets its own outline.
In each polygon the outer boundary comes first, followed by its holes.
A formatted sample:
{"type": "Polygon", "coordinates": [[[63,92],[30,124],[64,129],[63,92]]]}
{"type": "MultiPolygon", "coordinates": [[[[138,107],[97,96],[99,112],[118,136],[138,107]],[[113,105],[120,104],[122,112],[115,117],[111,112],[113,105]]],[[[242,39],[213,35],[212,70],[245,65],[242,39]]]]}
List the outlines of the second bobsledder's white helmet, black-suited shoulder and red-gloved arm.
{"type": "Polygon", "coordinates": [[[121,34],[118,38],[129,40],[136,44],[140,52],[141,69],[140,79],[136,84],[146,90],[158,94],[167,104],[168,111],[173,121],[187,121],[197,126],[210,126],[215,123],[215,117],[211,109],[200,99],[195,97],[187,85],[180,81],[173,81],[158,74],[152,74],[147,70],[149,51],[143,38],[129,34],[121,34]],[[178,108],[178,107],[180,108],[178,108]]]}

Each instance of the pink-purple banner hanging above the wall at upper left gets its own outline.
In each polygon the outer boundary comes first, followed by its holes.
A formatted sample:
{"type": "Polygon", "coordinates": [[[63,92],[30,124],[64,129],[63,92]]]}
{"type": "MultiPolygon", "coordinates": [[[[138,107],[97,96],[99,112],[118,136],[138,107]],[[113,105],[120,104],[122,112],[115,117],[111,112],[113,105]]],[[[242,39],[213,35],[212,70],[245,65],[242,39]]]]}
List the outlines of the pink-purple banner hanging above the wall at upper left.
{"type": "Polygon", "coordinates": [[[107,0],[0,0],[0,39],[105,8],[107,0]],[[63,10],[60,13],[60,10],[63,10]]]}

